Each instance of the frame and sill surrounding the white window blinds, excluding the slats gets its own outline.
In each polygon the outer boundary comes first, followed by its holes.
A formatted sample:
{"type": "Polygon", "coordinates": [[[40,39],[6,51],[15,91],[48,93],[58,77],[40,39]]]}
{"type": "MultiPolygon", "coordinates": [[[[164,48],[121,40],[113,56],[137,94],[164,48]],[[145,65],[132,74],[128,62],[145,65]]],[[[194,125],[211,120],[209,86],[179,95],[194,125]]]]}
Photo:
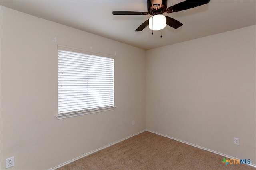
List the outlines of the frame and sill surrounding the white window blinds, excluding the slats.
{"type": "MultiPolygon", "coordinates": [[[[86,54],[86,55],[94,55],[94,56],[99,56],[99,57],[107,57],[107,58],[111,58],[111,59],[114,59],[114,60],[116,58],[115,55],[104,54],[104,53],[99,53],[99,52],[94,52],[94,51],[86,51],[84,49],[77,49],[77,48],[68,47],[68,46],[65,46],[65,45],[57,45],[57,53],[58,53],[59,50],[72,51],[72,52],[76,52],[76,53],[83,53],[83,54],[86,54]]],[[[115,67],[115,66],[113,66],[113,67],[115,67]]],[[[114,74],[114,71],[113,71],[113,74],[114,74]]],[[[58,76],[58,78],[59,78],[59,76],[58,76]]],[[[113,83],[113,86],[114,86],[114,83],[113,83]]],[[[114,92],[115,92],[115,88],[113,89],[113,93],[114,92]]],[[[59,95],[59,92],[57,92],[57,94],[59,95]]],[[[115,95],[113,94],[113,96],[115,96],[115,95]]],[[[58,96],[57,96],[57,98],[58,98],[58,96]]],[[[114,99],[113,99],[113,102],[114,102],[114,99]]],[[[59,104],[59,100],[58,100],[57,104],[59,104]]],[[[115,102],[114,102],[114,104],[115,104],[115,102]]],[[[64,118],[74,117],[74,116],[79,116],[79,115],[86,115],[86,114],[98,113],[98,112],[102,112],[102,111],[109,111],[109,110],[113,110],[115,108],[116,108],[116,106],[113,105],[113,106],[110,106],[110,107],[99,107],[99,108],[86,109],[86,110],[75,111],[75,112],[70,112],[70,113],[57,113],[57,115],[55,117],[57,119],[64,119],[64,118]]],[[[57,110],[58,110],[58,107],[57,107],[57,110]]]]}

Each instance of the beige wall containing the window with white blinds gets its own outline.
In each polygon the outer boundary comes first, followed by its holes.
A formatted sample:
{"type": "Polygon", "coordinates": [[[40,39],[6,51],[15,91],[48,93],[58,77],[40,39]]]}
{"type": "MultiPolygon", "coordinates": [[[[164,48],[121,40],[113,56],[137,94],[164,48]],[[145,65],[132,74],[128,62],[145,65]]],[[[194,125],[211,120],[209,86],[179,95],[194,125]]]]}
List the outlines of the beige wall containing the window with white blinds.
{"type": "Polygon", "coordinates": [[[145,50],[1,6],[0,68],[0,169],[53,168],[146,129],[145,50]],[[57,44],[116,54],[115,110],[56,119],[57,44]]]}

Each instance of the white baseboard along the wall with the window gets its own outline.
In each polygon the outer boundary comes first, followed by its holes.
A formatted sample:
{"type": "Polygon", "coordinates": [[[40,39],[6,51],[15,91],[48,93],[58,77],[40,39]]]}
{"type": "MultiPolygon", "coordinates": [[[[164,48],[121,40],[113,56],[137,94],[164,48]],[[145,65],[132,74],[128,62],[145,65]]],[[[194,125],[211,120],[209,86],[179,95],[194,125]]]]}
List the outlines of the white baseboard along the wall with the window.
{"type": "Polygon", "coordinates": [[[130,136],[128,136],[128,137],[125,137],[125,138],[123,138],[123,139],[120,139],[120,140],[118,140],[118,141],[116,141],[116,142],[110,143],[110,144],[108,144],[108,145],[106,145],[106,146],[104,146],[104,147],[100,147],[99,149],[96,149],[96,150],[93,150],[93,151],[88,152],[88,153],[86,153],[86,154],[83,154],[82,156],[79,156],[79,157],[77,157],[77,158],[74,158],[74,159],[72,159],[72,160],[69,160],[69,161],[67,161],[67,162],[65,162],[65,163],[63,163],[63,164],[60,164],[60,165],[58,165],[58,166],[55,166],[54,168],[51,168],[51,169],[49,169],[49,170],[55,170],[55,169],[60,168],[60,167],[62,167],[62,166],[64,166],[64,165],[70,164],[71,162],[74,162],[74,161],[76,161],[76,160],[78,160],[78,159],[81,159],[81,158],[83,158],[83,157],[85,157],[85,156],[88,156],[89,154],[92,154],[92,153],[94,153],[94,152],[98,152],[99,150],[102,150],[102,149],[105,149],[105,148],[107,148],[107,147],[110,147],[111,145],[114,145],[114,144],[116,144],[116,143],[119,143],[119,142],[121,142],[121,141],[124,141],[124,140],[126,140],[126,139],[128,139],[128,138],[130,138],[130,137],[133,137],[133,136],[135,136],[135,135],[138,135],[138,134],[140,134],[140,133],[142,133],[142,132],[144,132],[144,131],[146,131],[146,129],[143,130],[143,131],[140,131],[140,132],[138,132],[138,133],[135,133],[135,134],[133,134],[133,135],[130,135],[130,136]]]}

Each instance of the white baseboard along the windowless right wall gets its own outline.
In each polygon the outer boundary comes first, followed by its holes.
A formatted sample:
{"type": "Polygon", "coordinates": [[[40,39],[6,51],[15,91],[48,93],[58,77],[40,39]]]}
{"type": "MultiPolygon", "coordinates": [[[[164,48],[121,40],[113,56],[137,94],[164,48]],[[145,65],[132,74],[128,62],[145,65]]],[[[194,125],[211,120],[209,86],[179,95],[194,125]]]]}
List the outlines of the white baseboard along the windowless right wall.
{"type": "MultiPolygon", "coordinates": [[[[164,136],[164,137],[168,137],[168,138],[170,138],[170,139],[174,139],[175,141],[179,141],[179,142],[182,142],[182,143],[186,143],[186,144],[191,145],[191,146],[193,146],[193,147],[197,147],[197,148],[200,148],[200,149],[203,149],[203,150],[206,150],[206,151],[209,151],[209,152],[212,152],[212,153],[215,153],[215,154],[224,156],[224,157],[226,157],[226,158],[238,159],[238,158],[234,158],[233,156],[229,156],[229,155],[226,155],[226,154],[223,154],[223,153],[220,153],[220,152],[216,152],[216,151],[211,150],[211,149],[207,149],[207,148],[204,148],[204,147],[200,147],[200,146],[198,146],[198,145],[194,145],[194,144],[192,144],[192,143],[189,143],[189,142],[186,142],[186,141],[182,141],[182,140],[180,140],[180,139],[176,139],[176,138],[174,138],[174,137],[170,137],[170,136],[167,136],[167,135],[164,135],[164,134],[155,132],[155,131],[150,131],[150,130],[148,130],[148,129],[147,129],[146,131],[152,132],[152,133],[155,133],[155,134],[157,134],[157,135],[164,136]]],[[[238,160],[240,160],[240,159],[238,159],[238,160]]],[[[246,164],[246,165],[250,165],[250,166],[253,166],[254,168],[256,168],[256,165],[255,165],[255,164],[246,164]]]]}

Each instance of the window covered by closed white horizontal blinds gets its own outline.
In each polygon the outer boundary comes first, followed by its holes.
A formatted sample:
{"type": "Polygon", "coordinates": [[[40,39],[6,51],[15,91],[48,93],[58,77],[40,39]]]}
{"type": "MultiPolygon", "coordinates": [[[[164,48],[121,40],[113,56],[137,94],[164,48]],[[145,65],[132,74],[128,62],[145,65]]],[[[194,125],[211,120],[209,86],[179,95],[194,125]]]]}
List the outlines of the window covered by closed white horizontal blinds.
{"type": "Polygon", "coordinates": [[[58,45],[58,119],[114,109],[114,56],[58,45]]]}

